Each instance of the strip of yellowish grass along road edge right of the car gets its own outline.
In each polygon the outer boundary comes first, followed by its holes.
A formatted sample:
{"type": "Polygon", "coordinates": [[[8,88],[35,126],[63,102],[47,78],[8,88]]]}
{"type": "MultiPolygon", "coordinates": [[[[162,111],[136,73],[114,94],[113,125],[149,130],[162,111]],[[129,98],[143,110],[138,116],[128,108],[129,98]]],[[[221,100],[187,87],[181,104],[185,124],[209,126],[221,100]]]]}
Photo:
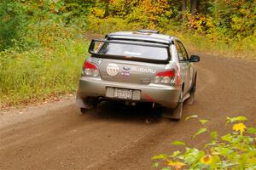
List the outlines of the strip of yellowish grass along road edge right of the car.
{"type": "Polygon", "coordinates": [[[212,40],[207,36],[192,33],[167,32],[183,40],[184,45],[190,51],[206,54],[214,54],[222,57],[247,59],[256,61],[256,37],[247,37],[241,41],[224,42],[212,40]]]}

